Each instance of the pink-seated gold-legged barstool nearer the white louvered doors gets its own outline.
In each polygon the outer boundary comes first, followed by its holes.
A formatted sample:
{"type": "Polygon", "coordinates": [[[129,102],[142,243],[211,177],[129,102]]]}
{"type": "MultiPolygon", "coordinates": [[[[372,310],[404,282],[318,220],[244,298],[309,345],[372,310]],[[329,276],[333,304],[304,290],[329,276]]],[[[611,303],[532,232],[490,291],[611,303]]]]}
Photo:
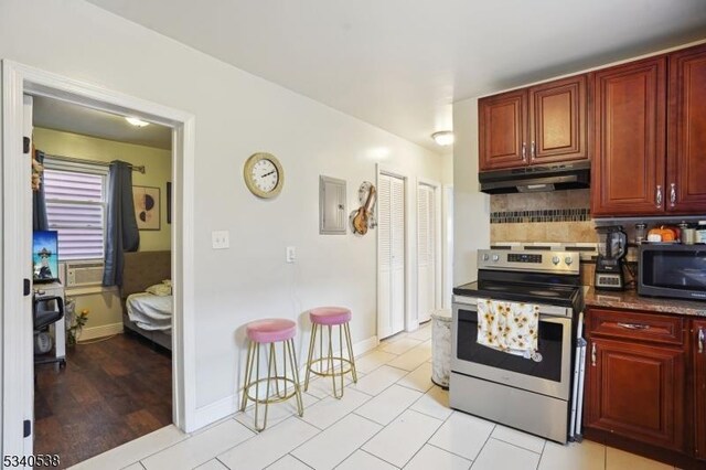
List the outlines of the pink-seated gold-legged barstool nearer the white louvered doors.
{"type": "Polygon", "coordinates": [[[343,396],[343,377],[349,372],[353,382],[357,383],[357,374],[355,372],[355,359],[353,357],[353,344],[351,342],[351,329],[349,323],[352,314],[351,310],[345,307],[318,307],[309,311],[311,319],[311,340],[309,342],[309,357],[307,361],[307,378],[304,381],[304,392],[309,389],[309,377],[311,373],[330,376],[333,382],[333,396],[341,398],[343,396]],[[323,331],[322,327],[328,329],[328,348],[327,354],[323,354],[323,331]],[[339,327],[339,351],[340,355],[333,355],[333,327],[339,327]],[[317,334],[319,335],[319,357],[314,359],[317,334]],[[347,359],[343,357],[343,339],[347,350],[347,359]],[[339,368],[335,368],[335,362],[339,362],[339,368]],[[336,389],[335,377],[340,377],[341,393],[336,389]]]}

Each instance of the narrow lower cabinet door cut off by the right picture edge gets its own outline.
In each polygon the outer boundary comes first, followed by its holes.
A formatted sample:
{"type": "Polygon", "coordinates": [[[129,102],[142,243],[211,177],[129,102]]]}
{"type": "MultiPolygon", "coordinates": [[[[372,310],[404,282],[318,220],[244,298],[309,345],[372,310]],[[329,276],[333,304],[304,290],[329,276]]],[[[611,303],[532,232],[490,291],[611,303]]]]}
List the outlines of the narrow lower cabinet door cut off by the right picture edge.
{"type": "Polygon", "coordinates": [[[694,453],[706,459],[706,320],[692,322],[694,373],[694,453]]]}

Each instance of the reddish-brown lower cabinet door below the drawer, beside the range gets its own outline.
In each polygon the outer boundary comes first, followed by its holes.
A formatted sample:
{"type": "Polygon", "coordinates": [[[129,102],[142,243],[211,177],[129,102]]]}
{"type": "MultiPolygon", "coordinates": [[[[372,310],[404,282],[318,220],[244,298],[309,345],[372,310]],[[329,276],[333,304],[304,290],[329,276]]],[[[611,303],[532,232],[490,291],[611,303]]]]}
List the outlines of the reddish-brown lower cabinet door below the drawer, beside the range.
{"type": "Polygon", "coordinates": [[[684,351],[592,338],[585,425],[643,442],[684,447],[684,351]]]}

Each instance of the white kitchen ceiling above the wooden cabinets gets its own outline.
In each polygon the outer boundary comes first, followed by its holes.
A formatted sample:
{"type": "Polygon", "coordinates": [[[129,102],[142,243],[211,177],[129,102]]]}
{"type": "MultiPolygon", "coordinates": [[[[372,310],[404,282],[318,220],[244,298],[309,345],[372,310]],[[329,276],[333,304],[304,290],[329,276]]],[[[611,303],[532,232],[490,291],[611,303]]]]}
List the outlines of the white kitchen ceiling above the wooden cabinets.
{"type": "Polygon", "coordinates": [[[427,148],[453,102],[706,38],[704,0],[88,0],[427,148]]]}

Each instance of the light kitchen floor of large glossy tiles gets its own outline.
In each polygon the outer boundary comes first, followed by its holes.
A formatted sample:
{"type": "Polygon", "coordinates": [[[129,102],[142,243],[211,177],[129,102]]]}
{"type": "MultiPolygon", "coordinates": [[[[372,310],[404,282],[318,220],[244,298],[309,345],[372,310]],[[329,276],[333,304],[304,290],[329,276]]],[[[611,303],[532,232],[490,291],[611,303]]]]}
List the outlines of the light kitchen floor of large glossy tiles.
{"type": "Polygon", "coordinates": [[[304,395],[270,407],[268,428],[250,410],[191,435],[173,426],[75,469],[672,469],[596,442],[560,446],[449,408],[430,381],[430,325],[400,333],[356,359],[359,383],[342,399],[318,378],[304,395]]]}

